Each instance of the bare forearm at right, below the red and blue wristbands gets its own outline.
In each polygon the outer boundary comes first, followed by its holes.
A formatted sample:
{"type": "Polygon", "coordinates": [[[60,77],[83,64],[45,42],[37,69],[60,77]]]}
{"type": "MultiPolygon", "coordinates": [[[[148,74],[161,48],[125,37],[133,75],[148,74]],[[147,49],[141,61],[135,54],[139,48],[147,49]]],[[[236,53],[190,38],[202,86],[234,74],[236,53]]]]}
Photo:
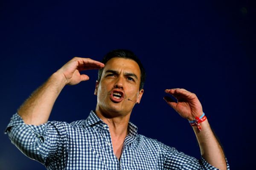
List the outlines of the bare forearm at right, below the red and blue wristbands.
{"type": "Polygon", "coordinates": [[[193,126],[193,130],[198,139],[201,155],[204,159],[214,167],[220,170],[227,169],[227,163],[225,160],[224,152],[213,134],[209,122],[205,120],[200,123],[201,131],[196,126],[193,126]]]}

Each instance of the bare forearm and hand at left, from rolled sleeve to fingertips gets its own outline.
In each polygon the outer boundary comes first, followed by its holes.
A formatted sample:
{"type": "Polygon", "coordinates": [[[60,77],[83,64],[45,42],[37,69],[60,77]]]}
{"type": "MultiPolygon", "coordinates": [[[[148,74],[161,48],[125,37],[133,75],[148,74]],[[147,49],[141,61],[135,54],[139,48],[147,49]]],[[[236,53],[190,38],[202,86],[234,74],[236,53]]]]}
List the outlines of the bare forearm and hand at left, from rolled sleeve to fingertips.
{"type": "Polygon", "coordinates": [[[52,107],[65,85],[76,85],[89,77],[80,71],[103,68],[104,64],[89,58],[75,57],[67,62],[20,106],[17,113],[28,125],[46,123],[52,107]]]}

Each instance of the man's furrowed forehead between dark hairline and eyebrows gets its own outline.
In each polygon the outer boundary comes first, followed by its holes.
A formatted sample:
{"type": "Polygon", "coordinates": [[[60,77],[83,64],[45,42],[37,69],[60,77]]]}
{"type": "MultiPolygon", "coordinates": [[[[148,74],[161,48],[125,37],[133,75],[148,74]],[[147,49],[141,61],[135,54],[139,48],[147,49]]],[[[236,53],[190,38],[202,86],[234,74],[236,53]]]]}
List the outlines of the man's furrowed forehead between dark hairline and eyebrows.
{"type": "Polygon", "coordinates": [[[132,59],[114,57],[108,60],[105,64],[103,72],[107,70],[123,71],[128,73],[134,73],[137,77],[140,77],[140,67],[132,59]]]}

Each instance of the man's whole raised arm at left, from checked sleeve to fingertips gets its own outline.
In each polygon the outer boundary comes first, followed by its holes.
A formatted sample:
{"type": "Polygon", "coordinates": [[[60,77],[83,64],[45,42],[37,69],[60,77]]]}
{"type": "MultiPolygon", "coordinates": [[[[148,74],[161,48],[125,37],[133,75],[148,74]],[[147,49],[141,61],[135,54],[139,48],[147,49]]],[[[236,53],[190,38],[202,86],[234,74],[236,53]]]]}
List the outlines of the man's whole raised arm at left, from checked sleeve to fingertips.
{"type": "Polygon", "coordinates": [[[12,143],[26,156],[45,165],[56,161],[65,150],[65,122],[48,122],[55,100],[65,85],[76,85],[89,77],[80,71],[103,68],[104,64],[88,58],[75,57],[58,71],[20,106],[12,116],[6,133],[12,143]]]}

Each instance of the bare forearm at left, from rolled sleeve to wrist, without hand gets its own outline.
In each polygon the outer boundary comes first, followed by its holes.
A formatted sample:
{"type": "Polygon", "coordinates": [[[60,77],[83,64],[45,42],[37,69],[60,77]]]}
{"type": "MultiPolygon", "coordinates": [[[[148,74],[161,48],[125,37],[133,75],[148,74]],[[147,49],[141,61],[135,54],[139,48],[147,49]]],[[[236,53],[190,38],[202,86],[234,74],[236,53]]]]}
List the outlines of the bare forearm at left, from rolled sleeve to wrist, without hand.
{"type": "Polygon", "coordinates": [[[32,95],[20,106],[18,114],[23,121],[29,125],[40,125],[46,123],[52,111],[55,100],[66,84],[66,79],[58,72],[41,87],[35,90],[32,95]]]}

